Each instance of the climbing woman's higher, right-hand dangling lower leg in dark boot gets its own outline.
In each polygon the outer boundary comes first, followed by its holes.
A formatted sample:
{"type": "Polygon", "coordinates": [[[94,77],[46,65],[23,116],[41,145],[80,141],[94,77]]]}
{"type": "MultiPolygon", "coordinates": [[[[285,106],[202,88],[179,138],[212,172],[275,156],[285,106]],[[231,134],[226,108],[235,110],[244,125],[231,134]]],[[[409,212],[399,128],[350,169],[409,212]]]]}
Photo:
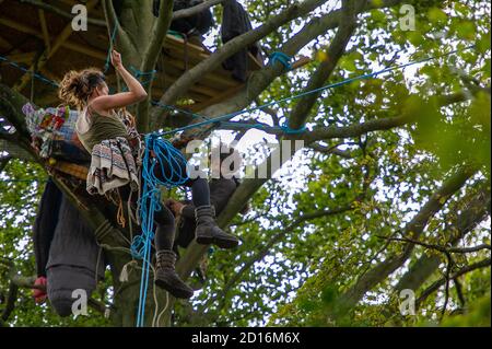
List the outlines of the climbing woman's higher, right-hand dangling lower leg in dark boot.
{"type": "Polygon", "coordinates": [[[236,236],[222,231],[215,223],[215,210],[210,205],[209,184],[204,178],[191,179],[191,196],[195,206],[197,243],[202,245],[215,244],[221,248],[234,248],[239,244],[236,236]]]}

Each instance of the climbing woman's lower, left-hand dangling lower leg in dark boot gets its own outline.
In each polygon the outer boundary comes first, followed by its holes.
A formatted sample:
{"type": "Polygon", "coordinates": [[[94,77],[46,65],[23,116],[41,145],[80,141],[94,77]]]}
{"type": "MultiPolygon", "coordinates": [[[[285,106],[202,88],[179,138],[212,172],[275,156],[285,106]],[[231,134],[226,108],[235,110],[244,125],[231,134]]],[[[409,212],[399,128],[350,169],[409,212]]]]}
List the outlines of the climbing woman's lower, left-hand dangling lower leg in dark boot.
{"type": "Polygon", "coordinates": [[[174,243],[174,217],[173,213],[162,206],[161,211],[154,213],[157,223],[155,230],[155,284],[165,289],[176,298],[189,299],[194,290],[186,284],[176,274],[176,254],[173,252],[174,243]]]}

